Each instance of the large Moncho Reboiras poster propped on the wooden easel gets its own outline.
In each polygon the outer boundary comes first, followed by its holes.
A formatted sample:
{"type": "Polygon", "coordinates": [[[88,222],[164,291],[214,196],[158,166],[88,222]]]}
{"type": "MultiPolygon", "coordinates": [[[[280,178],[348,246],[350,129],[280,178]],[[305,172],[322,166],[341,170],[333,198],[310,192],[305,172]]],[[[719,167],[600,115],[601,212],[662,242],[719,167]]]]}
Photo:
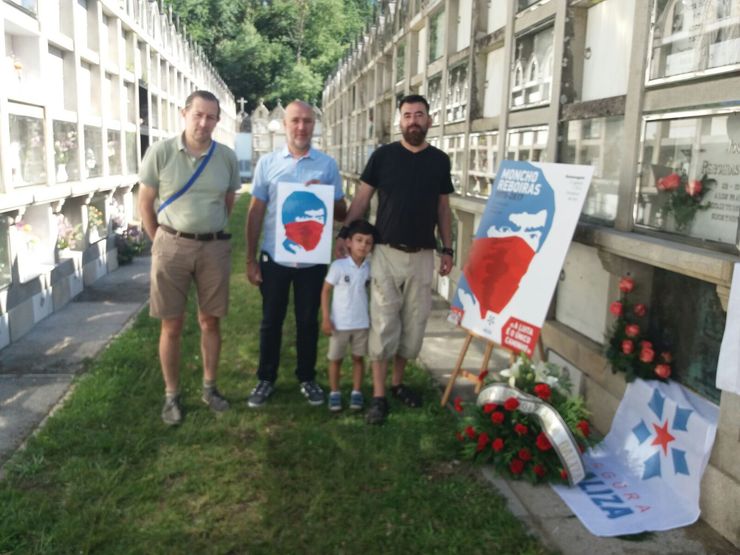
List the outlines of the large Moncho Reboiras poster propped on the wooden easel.
{"type": "Polygon", "coordinates": [[[450,320],[532,355],[593,167],[501,163],[470,246],[450,320]]]}

